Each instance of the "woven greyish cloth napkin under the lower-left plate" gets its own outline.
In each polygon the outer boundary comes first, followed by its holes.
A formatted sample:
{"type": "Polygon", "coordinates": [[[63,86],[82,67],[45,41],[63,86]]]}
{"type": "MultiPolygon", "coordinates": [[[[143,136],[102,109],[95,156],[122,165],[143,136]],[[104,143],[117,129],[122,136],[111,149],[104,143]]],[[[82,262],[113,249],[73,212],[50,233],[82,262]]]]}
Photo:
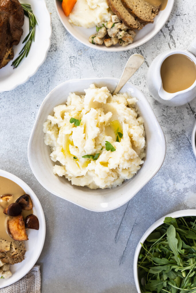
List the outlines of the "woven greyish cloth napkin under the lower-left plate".
{"type": "Polygon", "coordinates": [[[0,293],[41,293],[40,266],[35,265],[22,279],[0,289],[0,293]]]}

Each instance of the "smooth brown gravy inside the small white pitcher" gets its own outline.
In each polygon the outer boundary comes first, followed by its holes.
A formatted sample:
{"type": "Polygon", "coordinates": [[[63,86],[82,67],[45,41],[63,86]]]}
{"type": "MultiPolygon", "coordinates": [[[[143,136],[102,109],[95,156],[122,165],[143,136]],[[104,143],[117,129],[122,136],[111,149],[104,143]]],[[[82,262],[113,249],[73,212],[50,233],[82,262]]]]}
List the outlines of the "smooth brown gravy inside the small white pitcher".
{"type": "Polygon", "coordinates": [[[161,79],[168,93],[183,91],[195,82],[195,63],[183,54],[170,55],[161,65],[161,79]]]}

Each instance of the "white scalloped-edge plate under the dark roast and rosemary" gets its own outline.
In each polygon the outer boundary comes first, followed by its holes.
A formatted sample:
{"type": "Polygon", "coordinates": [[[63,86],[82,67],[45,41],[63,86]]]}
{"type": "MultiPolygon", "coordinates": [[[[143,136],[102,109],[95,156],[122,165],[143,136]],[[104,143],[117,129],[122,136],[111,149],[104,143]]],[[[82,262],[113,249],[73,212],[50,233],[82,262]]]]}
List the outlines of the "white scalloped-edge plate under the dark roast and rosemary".
{"type": "MultiPolygon", "coordinates": [[[[46,59],[47,52],[51,43],[51,17],[48,12],[45,0],[20,0],[21,3],[31,4],[33,13],[36,16],[38,25],[36,26],[35,42],[32,43],[29,55],[22,60],[19,66],[15,69],[11,66],[10,61],[5,67],[0,69],[0,93],[3,91],[10,91],[16,86],[25,83],[31,76],[33,76],[38,68],[46,59]]],[[[24,44],[24,38],[29,33],[29,19],[25,16],[23,25],[23,35],[17,46],[14,46],[15,60],[24,44]]]]}

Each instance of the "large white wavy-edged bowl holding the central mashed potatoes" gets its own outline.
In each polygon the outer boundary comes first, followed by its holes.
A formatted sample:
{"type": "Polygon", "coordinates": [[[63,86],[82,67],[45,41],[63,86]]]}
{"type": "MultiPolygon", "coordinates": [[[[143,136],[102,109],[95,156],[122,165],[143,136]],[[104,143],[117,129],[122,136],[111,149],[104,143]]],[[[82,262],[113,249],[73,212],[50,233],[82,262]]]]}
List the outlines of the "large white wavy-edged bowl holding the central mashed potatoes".
{"type": "Polygon", "coordinates": [[[165,159],[166,143],[163,130],[147,99],[138,88],[126,83],[120,92],[128,92],[137,98],[137,105],[144,119],[146,132],[146,157],[138,173],[118,187],[96,190],[71,185],[64,176],[58,177],[54,175],[53,166],[55,163],[50,158],[50,147],[44,144],[43,123],[48,115],[53,114],[55,106],[66,103],[70,92],[84,94],[84,89],[88,88],[92,83],[98,87],[107,86],[112,92],[118,83],[118,79],[73,79],[63,82],[46,96],[31,132],[28,144],[28,158],[33,174],[49,192],[86,209],[105,212],[124,205],[155,176],[165,159]]]}

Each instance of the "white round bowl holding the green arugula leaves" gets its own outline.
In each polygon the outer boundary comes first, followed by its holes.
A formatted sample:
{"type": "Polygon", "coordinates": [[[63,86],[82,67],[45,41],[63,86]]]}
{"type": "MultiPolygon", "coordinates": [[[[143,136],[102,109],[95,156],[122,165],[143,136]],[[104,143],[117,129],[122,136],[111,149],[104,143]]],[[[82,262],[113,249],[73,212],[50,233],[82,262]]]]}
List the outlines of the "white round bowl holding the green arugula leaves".
{"type": "Polygon", "coordinates": [[[136,247],[136,250],[135,250],[135,256],[133,261],[134,280],[135,280],[135,285],[136,285],[136,289],[138,293],[141,293],[139,280],[138,280],[138,256],[142,248],[140,243],[144,243],[144,241],[150,235],[150,233],[152,233],[158,226],[163,224],[165,217],[179,218],[179,217],[186,217],[186,216],[196,216],[196,209],[184,209],[182,211],[173,212],[171,214],[168,214],[160,218],[158,221],[152,224],[150,228],[148,228],[148,230],[144,233],[144,235],[140,239],[138,246],[136,247]]]}

